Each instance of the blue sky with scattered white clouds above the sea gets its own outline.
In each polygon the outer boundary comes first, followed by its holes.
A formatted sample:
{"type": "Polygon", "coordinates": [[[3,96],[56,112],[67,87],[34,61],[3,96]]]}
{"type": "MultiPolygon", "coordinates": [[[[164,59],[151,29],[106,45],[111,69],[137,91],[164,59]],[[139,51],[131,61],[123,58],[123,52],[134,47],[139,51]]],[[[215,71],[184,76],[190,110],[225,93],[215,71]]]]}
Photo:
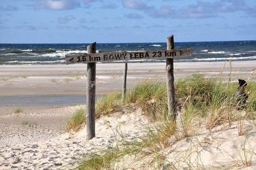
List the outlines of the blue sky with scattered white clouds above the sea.
{"type": "Polygon", "coordinates": [[[255,0],[1,0],[0,43],[256,40],[255,0]]]}

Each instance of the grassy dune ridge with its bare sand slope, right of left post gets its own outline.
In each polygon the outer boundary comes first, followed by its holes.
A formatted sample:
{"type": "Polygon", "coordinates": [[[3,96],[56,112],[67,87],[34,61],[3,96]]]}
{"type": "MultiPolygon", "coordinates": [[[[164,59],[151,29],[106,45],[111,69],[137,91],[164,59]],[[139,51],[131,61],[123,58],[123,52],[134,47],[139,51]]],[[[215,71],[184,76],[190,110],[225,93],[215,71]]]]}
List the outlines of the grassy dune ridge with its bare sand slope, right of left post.
{"type": "Polygon", "coordinates": [[[116,131],[117,142],[114,146],[86,154],[84,161],[77,168],[227,169],[256,165],[256,112],[253,106],[256,99],[256,82],[247,81],[246,90],[252,91],[247,99],[247,107],[244,110],[236,110],[234,105],[237,98],[233,94],[238,82],[230,80],[231,78],[205,78],[202,74],[192,74],[177,80],[176,122],[171,122],[166,116],[168,105],[164,81],[137,82],[134,88],[130,89],[124,103],[121,93],[109,94],[98,100],[97,118],[116,111],[122,113],[123,108],[131,108],[140,109],[151,123],[142,125],[143,135],[133,139],[128,139],[121,131],[116,131]],[[229,132],[234,130],[236,135],[229,136],[229,132]],[[232,153],[238,157],[224,153],[223,156],[228,157],[226,162],[221,163],[216,159],[212,165],[206,164],[207,157],[201,157],[205,146],[214,147],[215,150],[217,148],[216,154],[218,149],[225,149],[214,140],[221,131],[228,136],[227,143],[234,146],[232,153]],[[181,147],[184,144],[188,146],[185,150],[181,147]],[[177,148],[183,152],[179,152],[177,148]]]}

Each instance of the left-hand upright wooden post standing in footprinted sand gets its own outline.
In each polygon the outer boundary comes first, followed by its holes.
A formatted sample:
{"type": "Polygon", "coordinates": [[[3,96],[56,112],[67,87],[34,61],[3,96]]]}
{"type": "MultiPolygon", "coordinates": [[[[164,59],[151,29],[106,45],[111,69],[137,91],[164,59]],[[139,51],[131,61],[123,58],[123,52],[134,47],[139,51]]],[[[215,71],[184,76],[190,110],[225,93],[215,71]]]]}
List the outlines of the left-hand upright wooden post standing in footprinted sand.
{"type": "MultiPolygon", "coordinates": [[[[87,46],[87,53],[96,53],[96,42],[87,46]]],[[[87,63],[86,140],[95,137],[96,63],[87,63]]]]}

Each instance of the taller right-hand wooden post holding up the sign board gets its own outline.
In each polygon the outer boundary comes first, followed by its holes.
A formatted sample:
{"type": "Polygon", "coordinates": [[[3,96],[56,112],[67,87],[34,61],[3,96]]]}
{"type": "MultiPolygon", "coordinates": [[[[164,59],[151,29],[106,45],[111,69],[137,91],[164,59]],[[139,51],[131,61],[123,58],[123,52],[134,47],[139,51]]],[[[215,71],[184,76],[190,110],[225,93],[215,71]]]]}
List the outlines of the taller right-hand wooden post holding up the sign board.
{"type": "MultiPolygon", "coordinates": [[[[167,38],[167,50],[174,49],[174,35],[167,38]]],[[[166,59],[166,73],[167,73],[167,99],[168,99],[168,117],[176,120],[175,107],[175,91],[174,91],[174,59],[166,59]]]]}

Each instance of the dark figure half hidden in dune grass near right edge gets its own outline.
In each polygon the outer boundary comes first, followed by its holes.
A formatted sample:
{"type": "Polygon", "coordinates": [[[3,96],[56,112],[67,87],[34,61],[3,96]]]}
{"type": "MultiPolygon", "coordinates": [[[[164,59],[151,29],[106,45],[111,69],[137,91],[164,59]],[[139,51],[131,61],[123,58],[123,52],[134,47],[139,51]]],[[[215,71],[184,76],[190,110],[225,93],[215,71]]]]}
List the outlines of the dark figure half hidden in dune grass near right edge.
{"type": "Polygon", "coordinates": [[[247,83],[245,80],[238,79],[238,82],[239,82],[239,87],[234,93],[234,98],[235,98],[234,107],[237,110],[242,110],[246,108],[246,100],[248,99],[248,96],[250,95],[251,91],[247,92],[247,94],[245,93],[245,89],[247,86],[247,83]]]}

